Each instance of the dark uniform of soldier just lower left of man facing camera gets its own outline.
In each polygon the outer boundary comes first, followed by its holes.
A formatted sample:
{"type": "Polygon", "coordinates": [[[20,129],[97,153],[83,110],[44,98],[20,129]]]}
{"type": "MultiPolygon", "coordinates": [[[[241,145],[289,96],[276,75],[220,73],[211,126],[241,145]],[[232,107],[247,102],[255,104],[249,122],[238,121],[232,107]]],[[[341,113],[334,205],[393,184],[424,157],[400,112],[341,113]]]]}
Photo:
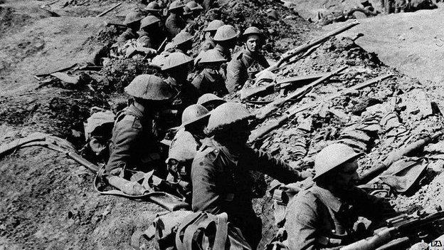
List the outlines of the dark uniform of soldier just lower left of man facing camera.
{"type": "Polygon", "coordinates": [[[199,75],[196,75],[191,84],[196,87],[199,96],[206,93],[211,93],[218,97],[228,94],[222,75],[212,68],[204,68],[199,75]]]}

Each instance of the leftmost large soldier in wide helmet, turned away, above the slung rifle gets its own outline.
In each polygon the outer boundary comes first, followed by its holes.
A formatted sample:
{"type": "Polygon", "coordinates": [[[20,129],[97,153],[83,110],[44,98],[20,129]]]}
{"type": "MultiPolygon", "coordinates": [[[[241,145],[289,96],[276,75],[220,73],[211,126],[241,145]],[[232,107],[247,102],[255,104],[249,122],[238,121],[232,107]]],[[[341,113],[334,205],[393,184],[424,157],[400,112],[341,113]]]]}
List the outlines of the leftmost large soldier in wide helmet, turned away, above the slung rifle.
{"type": "Polygon", "coordinates": [[[170,103],[174,90],[155,75],[137,75],[125,92],[134,103],[117,113],[106,171],[128,177],[125,170],[162,170],[165,165],[158,142],[163,135],[154,118],[170,103]]]}

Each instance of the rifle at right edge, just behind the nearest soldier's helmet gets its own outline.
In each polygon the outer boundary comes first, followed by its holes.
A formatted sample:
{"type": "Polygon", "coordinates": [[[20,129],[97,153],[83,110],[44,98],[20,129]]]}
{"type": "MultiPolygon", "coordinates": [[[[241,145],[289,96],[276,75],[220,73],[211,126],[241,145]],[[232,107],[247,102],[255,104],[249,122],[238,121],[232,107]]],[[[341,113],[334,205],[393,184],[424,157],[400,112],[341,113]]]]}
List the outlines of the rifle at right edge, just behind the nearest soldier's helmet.
{"type": "Polygon", "coordinates": [[[416,142],[413,142],[409,145],[406,145],[405,147],[401,147],[399,150],[396,150],[394,152],[391,152],[388,154],[386,159],[381,162],[381,164],[377,165],[376,167],[371,168],[370,170],[365,171],[360,177],[359,177],[359,184],[366,184],[371,179],[374,179],[376,176],[380,175],[382,172],[384,172],[393,162],[396,162],[397,160],[401,159],[401,157],[405,155],[411,155],[411,153],[416,151],[421,151],[425,147],[425,145],[428,145],[428,143],[432,142],[433,140],[438,139],[438,137],[442,136],[443,132],[436,132],[434,135],[428,135],[424,139],[418,140],[416,142]]]}

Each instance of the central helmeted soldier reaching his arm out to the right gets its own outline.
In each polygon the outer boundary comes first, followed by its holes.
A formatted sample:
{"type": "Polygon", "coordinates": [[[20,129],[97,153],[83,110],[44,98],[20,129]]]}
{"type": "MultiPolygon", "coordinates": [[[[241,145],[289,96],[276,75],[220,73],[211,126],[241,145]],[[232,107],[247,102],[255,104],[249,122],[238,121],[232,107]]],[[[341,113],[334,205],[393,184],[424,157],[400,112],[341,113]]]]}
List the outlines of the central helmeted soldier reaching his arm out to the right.
{"type": "Polygon", "coordinates": [[[248,172],[263,172],[280,182],[296,182],[311,176],[264,152],[246,146],[252,115],[240,103],[223,103],[211,112],[206,135],[191,167],[193,211],[226,212],[228,222],[240,228],[250,246],[261,237],[261,222],[251,204],[252,179],[248,172]]]}

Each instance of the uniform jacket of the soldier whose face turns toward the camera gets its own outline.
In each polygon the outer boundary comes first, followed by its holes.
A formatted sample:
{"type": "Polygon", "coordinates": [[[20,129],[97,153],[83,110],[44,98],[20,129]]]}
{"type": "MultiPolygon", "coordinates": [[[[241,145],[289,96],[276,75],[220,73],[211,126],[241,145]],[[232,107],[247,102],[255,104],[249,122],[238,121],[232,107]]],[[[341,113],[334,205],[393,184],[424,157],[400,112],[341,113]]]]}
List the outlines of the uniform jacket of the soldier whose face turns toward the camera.
{"type": "Polygon", "coordinates": [[[230,93],[242,88],[248,80],[248,68],[258,63],[263,68],[268,68],[267,60],[261,53],[252,53],[244,48],[236,53],[233,59],[227,65],[226,87],[230,93]]]}

